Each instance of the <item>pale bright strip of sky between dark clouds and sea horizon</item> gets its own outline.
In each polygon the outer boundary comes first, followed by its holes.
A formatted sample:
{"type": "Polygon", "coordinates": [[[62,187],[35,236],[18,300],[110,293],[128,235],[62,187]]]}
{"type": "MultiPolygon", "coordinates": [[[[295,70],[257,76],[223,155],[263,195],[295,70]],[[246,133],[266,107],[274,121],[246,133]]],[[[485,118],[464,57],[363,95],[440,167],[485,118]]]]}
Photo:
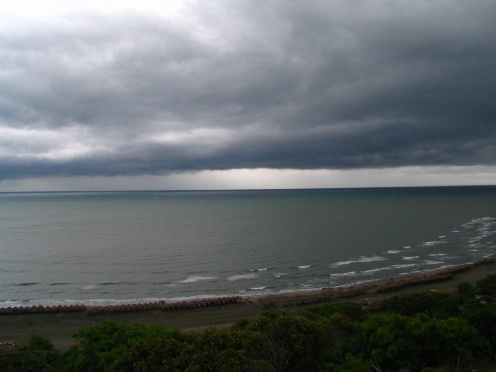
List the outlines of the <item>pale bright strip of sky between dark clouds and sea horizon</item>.
{"type": "Polygon", "coordinates": [[[229,190],[495,185],[496,167],[399,167],[357,170],[231,169],[164,176],[53,177],[0,182],[9,191],[229,190]]]}

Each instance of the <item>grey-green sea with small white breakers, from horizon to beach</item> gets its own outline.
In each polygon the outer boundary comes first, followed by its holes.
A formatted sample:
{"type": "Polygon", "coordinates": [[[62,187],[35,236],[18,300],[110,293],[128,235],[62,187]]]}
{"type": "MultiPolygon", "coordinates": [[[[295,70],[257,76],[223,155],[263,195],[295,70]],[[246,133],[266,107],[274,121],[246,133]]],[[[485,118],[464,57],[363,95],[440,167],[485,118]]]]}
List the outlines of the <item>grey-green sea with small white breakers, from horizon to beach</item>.
{"type": "Polygon", "coordinates": [[[0,193],[0,307],[349,285],[495,253],[496,186],[0,193]]]}

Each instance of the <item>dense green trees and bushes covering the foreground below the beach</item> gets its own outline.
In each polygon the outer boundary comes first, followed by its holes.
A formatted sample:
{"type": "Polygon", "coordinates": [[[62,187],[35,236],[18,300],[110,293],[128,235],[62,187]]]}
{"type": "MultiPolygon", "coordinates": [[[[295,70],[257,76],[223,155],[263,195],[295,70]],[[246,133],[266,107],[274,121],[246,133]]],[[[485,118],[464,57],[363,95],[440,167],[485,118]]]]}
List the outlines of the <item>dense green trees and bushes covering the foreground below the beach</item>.
{"type": "MultiPolygon", "coordinates": [[[[228,330],[187,334],[112,320],[76,332],[64,354],[33,337],[0,353],[0,370],[70,372],[472,371],[495,365],[496,275],[456,294],[391,297],[311,310],[266,306],[228,330]]],[[[491,368],[493,370],[493,368],[491,368]]]]}

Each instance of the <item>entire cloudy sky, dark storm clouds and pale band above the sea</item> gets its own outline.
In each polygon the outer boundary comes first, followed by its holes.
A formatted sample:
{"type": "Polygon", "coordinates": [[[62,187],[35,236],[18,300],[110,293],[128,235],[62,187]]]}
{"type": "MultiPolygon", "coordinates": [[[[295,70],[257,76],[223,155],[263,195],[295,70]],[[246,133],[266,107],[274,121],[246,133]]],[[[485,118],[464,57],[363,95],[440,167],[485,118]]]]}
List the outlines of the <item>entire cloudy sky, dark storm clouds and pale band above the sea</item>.
{"type": "Polygon", "coordinates": [[[496,1],[16,0],[0,191],[496,184],[496,1]]]}

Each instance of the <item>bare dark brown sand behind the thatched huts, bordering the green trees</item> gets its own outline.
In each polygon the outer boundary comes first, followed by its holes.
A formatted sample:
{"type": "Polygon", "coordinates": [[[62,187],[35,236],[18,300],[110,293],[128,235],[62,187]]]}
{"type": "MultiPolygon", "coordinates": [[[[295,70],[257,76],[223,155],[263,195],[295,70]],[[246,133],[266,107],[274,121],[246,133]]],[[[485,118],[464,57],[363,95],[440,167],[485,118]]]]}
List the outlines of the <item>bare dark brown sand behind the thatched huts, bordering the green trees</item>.
{"type": "MultiPolygon", "coordinates": [[[[372,297],[381,300],[400,293],[420,292],[435,289],[448,292],[457,283],[467,281],[475,283],[490,274],[496,273],[496,262],[481,263],[452,274],[449,279],[433,281],[431,283],[406,286],[394,291],[377,292],[377,288],[388,285],[391,281],[404,280],[394,278],[393,280],[382,280],[375,283],[367,283],[356,286],[360,293],[347,298],[333,298],[332,301],[356,301],[363,297],[372,297]]],[[[332,292],[332,291],[331,291],[332,292]]],[[[335,293],[335,292],[332,292],[335,293]]],[[[56,348],[67,350],[73,341],[71,335],[82,326],[91,326],[104,319],[124,321],[129,324],[143,323],[145,325],[163,324],[166,327],[177,327],[186,332],[197,332],[209,326],[218,328],[229,327],[240,317],[254,317],[260,313],[261,305],[274,301],[278,306],[290,309],[300,309],[309,306],[319,306],[323,303],[315,303],[316,298],[327,296],[329,290],[318,290],[311,292],[287,293],[280,295],[266,295],[243,299],[236,304],[228,304],[214,307],[204,307],[187,310],[146,310],[136,312],[87,314],[85,312],[59,312],[59,313],[32,313],[32,314],[0,314],[0,341],[15,341],[16,343],[28,339],[32,335],[41,335],[50,339],[56,348]],[[302,305],[302,303],[310,303],[302,305]]]]}

